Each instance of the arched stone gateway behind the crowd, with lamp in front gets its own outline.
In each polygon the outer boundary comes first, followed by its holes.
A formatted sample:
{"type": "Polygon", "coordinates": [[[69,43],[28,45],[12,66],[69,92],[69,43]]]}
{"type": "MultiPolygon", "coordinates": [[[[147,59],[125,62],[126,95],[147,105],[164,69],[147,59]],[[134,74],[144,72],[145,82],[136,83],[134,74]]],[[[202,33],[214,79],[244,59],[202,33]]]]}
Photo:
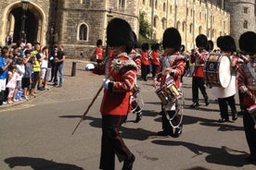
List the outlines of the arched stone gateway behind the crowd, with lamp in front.
{"type": "MultiPolygon", "coordinates": [[[[8,7],[8,6],[7,6],[8,7]]],[[[5,16],[5,15],[4,15],[5,16]]],[[[5,37],[13,36],[13,42],[19,42],[21,37],[21,19],[23,16],[21,3],[10,5],[6,12],[5,37]]],[[[27,42],[45,43],[45,15],[37,6],[30,4],[25,12],[24,30],[27,42]]]]}

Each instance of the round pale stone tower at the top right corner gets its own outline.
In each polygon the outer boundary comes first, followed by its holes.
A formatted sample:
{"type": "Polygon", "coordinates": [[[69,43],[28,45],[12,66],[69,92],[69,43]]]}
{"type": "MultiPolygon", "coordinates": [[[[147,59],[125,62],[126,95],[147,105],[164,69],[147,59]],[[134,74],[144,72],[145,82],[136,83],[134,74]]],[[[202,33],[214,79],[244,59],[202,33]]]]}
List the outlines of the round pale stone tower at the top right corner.
{"type": "Polygon", "coordinates": [[[236,40],[248,30],[255,31],[255,0],[225,0],[224,8],[230,13],[230,32],[236,40]]]}

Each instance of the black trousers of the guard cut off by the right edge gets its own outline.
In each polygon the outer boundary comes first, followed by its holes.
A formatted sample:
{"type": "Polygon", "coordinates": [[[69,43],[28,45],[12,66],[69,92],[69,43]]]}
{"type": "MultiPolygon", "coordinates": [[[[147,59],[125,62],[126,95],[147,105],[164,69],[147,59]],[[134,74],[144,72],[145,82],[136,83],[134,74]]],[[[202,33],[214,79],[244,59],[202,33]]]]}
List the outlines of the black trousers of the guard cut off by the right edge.
{"type": "Polygon", "coordinates": [[[256,156],[256,128],[252,116],[247,109],[244,110],[243,123],[245,128],[246,140],[250,149],[250,154],[256,156]]]}

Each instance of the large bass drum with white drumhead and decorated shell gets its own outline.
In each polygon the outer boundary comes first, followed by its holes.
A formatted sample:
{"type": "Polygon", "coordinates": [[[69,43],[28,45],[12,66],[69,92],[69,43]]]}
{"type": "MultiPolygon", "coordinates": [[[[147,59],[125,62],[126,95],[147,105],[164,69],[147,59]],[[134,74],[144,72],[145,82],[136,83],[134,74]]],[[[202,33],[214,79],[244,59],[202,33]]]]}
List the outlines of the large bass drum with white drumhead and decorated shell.
{"type": "Polygon", "coordinates": [[[210,54],[204,65],[204,77],[208,86],[226,88],[231,80],[230,58],[222,54],[210,54]]]}

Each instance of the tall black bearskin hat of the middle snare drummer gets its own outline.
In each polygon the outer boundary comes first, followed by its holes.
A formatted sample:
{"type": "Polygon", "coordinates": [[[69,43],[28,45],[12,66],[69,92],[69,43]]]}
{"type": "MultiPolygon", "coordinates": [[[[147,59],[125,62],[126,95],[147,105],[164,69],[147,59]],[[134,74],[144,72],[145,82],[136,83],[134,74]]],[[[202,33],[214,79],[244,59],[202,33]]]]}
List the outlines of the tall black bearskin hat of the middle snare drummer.
{"type": "Polygon", "coordinates": [[[164,30],[162,37],[162,46],[163,49],[174,48],[175,51],[181,49],[181,35],[180,32],[174,28],[168,28],[164,30]]]}

